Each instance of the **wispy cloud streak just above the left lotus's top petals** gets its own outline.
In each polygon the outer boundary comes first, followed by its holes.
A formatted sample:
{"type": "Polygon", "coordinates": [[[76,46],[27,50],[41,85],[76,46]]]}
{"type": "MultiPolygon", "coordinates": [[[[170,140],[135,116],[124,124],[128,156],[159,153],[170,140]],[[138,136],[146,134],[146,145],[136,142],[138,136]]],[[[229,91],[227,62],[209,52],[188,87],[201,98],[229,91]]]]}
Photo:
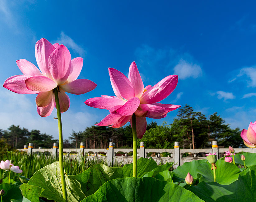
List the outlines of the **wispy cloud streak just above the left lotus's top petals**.
{"type": "Polygon", "coordinates": [[[74,40],[67,36],[64,32],[60,33],[60,37],[56,41],[54,41],[54,43],[63,44],[67,48],[71,48],[74,52],[77,52],[81,57],[84,57],[86,55],[86,51],[77,43],[75,43],[74,40]]]}

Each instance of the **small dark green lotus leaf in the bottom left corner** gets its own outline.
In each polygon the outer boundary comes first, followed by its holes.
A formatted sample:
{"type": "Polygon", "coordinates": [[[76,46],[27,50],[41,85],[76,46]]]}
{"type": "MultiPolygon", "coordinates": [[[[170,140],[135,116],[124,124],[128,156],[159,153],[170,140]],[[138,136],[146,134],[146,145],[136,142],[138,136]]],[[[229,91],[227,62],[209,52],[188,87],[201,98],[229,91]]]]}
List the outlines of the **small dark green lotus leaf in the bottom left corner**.
{"type": "Polygon", "coordinates": [[[11,201],[11,199],[22,200],[21,190],[18,186],[2,183],[0,184],[0,190],[1,189],[3,189],[5,192],[5,194],[2,197],[2,201],[11,201]]]}

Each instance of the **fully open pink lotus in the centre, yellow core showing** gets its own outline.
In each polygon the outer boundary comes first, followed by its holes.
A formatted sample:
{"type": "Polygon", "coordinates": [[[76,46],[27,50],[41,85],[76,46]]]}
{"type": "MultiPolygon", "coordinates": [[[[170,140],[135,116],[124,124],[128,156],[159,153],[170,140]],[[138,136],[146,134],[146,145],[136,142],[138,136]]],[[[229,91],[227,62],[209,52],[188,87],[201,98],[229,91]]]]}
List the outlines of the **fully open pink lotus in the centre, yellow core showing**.
{"type": "Polygon", "coordinates": [[[148,85],[144,88],[137,65],[133,62],[129,68],[128,78],[114,68],[109,68],[109,76],[116,97],[103,95],[85,101],[88,106],[110,112],[95,125],[120,128],[128,121],[132,122],[132,115],[135,113],[137,137],[141,139],[146,132],[146,117],[161,119],[168,112],[180,107],[159,103],[176,88],[177,75],[167,76],[153,87],[148,85]]]}

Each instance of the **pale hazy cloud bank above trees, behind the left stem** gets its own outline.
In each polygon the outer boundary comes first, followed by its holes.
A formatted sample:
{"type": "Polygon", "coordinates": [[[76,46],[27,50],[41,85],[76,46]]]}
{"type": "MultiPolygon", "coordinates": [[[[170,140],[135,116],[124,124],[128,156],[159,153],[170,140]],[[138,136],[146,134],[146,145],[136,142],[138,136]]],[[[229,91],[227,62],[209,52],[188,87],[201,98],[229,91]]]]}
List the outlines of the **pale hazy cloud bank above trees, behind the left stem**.
{"type": "MultiPolygon", "coordinates": [[[[36,111],[35,95],[17,94],[6,89],[0,90],[0,94],[0,129],[6,130],[12,124],[20,125],[21,128],[37,129],[41,133],[45,132],[58,139],[58,123],[54,119],[57,117],[55,109],[50,116],[40,117],[36,111]]],[[[74,112],[70,109],[61,116],[64,139],[72,133],[72,129],[83,131],[99,119],[97,115],[81,111],[74,112]]]]}

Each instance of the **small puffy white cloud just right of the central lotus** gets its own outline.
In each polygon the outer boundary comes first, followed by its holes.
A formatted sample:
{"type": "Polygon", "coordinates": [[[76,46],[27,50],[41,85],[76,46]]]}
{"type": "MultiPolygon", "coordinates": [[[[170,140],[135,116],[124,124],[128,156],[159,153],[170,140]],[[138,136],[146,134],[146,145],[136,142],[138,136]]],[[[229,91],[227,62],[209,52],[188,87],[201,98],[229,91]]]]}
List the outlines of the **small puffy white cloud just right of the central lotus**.
{"type": "Polygon", "coordinates": [[[174,73],[179,76],[179,79],[198,78],[202,75],[202,69],[197,64],[180,59],[179,63],[174,67],[174,73]]]}

